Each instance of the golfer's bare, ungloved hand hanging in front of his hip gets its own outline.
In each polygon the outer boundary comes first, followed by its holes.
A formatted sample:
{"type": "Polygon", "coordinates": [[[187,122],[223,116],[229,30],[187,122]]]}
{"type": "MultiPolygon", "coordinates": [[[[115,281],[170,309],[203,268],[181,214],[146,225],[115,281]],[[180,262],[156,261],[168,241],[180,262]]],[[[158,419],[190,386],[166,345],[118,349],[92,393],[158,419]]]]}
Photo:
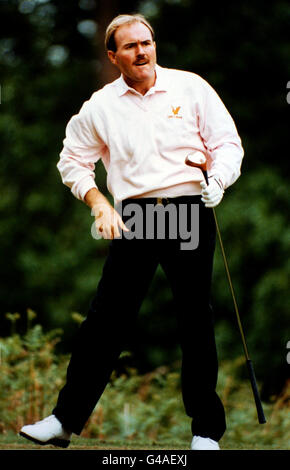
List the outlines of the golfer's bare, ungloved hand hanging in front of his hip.
{"type": "Polygon", "coordinates": [[[103,238],[112,240],[120,237],[119,229],[129,232],[118,212],[98,189],[93,188],[88,191],[85,202],[92,209],[96,229],[103,238]]]}

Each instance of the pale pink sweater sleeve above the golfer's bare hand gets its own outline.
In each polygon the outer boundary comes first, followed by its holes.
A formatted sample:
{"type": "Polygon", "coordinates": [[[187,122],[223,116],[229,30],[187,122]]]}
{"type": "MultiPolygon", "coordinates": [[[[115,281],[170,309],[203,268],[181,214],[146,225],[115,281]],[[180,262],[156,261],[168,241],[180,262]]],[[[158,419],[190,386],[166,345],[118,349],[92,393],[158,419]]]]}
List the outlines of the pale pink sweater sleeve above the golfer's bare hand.
{"type": "Polygon", "coordinates": [[[91,103],[86,101],[66,126],[63,149],[57,163],[63,184],[71,189],[77,199],[84,200],[90,189],[97,188],[95,163],[102,157],[105,148],[93,124],[91,103]]]}

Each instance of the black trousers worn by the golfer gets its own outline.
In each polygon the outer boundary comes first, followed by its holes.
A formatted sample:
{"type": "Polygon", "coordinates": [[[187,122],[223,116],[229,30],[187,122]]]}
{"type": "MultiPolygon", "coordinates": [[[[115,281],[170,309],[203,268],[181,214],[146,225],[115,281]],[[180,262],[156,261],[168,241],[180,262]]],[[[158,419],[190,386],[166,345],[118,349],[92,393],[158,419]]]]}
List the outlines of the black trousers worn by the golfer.
{"type": "MultiPolygon", "coordinates": [[[[131,199],[123,208],[132,201],[144,214],[145,206],[152,204],[152,199],[131,199]]],[[[182,250],[180,237],[169,238],[168,225],[165,239],[121,237],[110,242],[95,297],[74,343],[66,384],[53,410],[63,426],[76,434],[81,433],[101,397],[128,335],[134,334],[136,316],[159,263],[176,306],[182,397],[186,414],[192,418],[192,434],[218,441],[225,432],[224,408],[216,393],[218,361],[210,305],[216,237],[213,213],[199,196],[167,203],[174,203],[177,213],[183,205],[189,216],[192,205],[198,207],[198,246],[182,250]]],[[[125,216],[123,220],[126,223],[125,216]]],[[[144,222],[146,225],[145,217],[144,222]]]]}

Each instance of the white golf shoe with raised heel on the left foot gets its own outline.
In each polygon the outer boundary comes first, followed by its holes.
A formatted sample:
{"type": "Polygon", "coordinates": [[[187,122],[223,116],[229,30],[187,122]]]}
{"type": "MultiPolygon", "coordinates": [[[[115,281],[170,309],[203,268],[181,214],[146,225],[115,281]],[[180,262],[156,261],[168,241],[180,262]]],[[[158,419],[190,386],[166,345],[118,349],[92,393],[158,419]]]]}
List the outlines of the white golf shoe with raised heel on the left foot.
{"type": "Polygon", "coordinates": [[[71,434],[63,428],[61,422],[54,415],[37,421],[35,424],[23,426],[19,432],[20,436],[36,444],[52,444],[63,448],[69,446],[71,434]]]}

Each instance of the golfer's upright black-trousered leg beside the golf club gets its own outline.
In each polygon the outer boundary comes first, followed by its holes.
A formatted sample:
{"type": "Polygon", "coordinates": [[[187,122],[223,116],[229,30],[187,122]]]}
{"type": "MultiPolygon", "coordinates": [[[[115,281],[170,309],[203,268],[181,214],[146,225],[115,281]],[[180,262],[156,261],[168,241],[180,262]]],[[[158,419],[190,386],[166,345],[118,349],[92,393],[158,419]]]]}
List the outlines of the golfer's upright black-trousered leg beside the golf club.
{"type": "MultiPolygon", "coordinates": [[[[192,198],[193,203],[197,201],[192,198]]],[[[198,247],[181,250],[180,243],[169,240],[161,265],[176,303],[182,349],[182,394],[186,413],[193,418],[192,433],[218,441],[226,423],[223,405],[215,391],[218,361],[210,306],[215,222],[212,211],[202,203],[199,227],[198,247]]]]}

